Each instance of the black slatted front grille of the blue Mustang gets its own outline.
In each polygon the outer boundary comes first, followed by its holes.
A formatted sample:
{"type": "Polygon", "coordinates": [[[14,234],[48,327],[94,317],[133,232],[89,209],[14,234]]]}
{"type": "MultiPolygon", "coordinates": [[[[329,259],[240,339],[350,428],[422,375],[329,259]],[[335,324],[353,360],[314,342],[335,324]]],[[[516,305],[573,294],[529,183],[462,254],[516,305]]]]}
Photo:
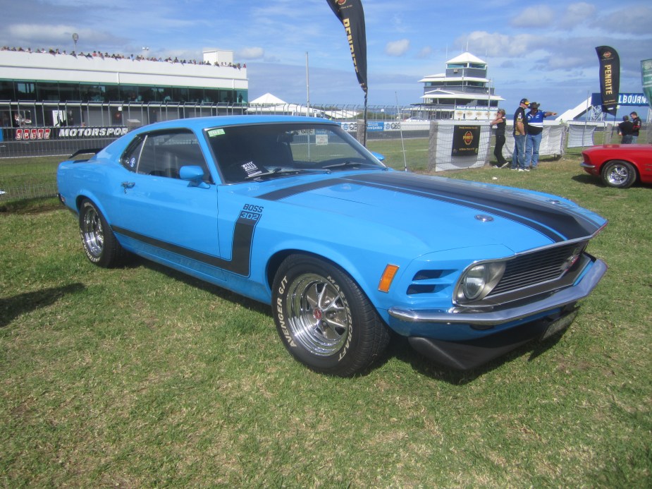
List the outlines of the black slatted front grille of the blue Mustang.
{"type": "Polygon", "coordinates": [[[505,262],[505,273],[488,297],[543,284],[562,277],[572,257],[577,257],[585,246],[586,243],[571,243],[517,256],[517,258],[505,262]]]}

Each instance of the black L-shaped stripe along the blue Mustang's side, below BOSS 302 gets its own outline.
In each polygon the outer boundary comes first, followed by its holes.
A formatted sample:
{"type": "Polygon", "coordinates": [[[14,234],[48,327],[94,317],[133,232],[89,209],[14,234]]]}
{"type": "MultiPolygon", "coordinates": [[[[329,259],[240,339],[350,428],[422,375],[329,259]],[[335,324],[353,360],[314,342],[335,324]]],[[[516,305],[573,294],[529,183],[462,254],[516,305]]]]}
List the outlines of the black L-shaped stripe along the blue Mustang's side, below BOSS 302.
{"type": "Polygon", "coordinates": [[[230,260],[225,260],[224,258],[219,258],[219,256],[215,255],[209,255],[208,253],[190,250],[183,246],[168,243],[167,241],[161,241],[149,236],[144,236],[143,234],[130,231],[129,229],[123,229],[121,227],[111,227],[111,229],[118,234],[123,234],[124,236],[128,236],[150,246],[155,246],[156,248],[176,253],[185,258],[190,258],[190,260],[196,260],[206,265],[210,265],[211,267],[221,268],[227,272],[233,272],[242,275],[243,277],[249,277],[251,271],[251,251],[252,243],[254,241],[254,229],[256,228],[258,221],[259,219],[247,219],[240,216],[235,222],[230,260]]]}

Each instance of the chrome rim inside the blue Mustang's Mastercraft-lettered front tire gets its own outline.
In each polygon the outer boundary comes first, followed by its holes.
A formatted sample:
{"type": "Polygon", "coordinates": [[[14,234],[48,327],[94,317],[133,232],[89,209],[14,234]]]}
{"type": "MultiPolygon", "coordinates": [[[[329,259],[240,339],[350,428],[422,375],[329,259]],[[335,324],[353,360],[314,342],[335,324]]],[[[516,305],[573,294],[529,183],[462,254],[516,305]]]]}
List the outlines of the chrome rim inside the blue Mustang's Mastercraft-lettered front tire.
{"type": "Polygon", "coordinates": [[[328,279],[300,275],[288,286],[285,301],[290,332],[307,351],[331,356],[344,346],[350,315],[345,300],[328,279]]]}

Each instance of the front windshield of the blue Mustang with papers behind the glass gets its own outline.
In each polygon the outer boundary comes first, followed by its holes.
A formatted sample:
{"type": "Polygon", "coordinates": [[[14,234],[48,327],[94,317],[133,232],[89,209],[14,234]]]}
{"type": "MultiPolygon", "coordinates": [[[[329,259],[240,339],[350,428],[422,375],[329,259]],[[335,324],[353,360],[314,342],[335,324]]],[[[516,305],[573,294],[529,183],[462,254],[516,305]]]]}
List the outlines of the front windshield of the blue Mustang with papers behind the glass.
{"type": "Polygon", "coordinates": [[[340,126],[269,123],[211,128],[206,133],[226,183],[386,168],[340,126]]]}

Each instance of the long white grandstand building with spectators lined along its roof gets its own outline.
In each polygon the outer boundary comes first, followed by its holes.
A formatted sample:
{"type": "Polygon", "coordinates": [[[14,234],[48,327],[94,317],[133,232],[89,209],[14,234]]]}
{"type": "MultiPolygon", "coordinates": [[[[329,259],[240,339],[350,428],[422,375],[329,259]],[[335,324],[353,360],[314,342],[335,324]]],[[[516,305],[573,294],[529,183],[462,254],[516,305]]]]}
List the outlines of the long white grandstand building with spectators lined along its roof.
{"type": "Polygon", "coordinates": [[[200,115],[230,113],[247,104],[248,86],[246,66],[219,49],[180,61],[3,48],[0,126],[141,125],[197,107],[200,115]]]}

